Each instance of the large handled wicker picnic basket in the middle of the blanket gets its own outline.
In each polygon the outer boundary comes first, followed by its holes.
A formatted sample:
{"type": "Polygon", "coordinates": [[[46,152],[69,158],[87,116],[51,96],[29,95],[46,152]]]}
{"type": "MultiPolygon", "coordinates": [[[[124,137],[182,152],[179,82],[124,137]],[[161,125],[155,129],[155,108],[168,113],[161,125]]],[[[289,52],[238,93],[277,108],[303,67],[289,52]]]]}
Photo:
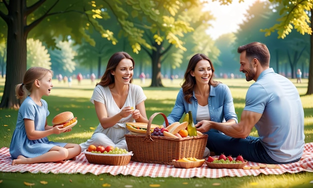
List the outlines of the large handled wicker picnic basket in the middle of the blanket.
{"type": "Polygon", "coordinates": [[[164,117],[167,126],[168,121],[165,114],[155,112],[149,118],[145,135],[125,134],[128,150],[133,152],[130,160],[172,165],[172,159],[183,157],[203,158],[207,134],[183,138],[151,135],[150,125],[157,114],[164,117]]]}

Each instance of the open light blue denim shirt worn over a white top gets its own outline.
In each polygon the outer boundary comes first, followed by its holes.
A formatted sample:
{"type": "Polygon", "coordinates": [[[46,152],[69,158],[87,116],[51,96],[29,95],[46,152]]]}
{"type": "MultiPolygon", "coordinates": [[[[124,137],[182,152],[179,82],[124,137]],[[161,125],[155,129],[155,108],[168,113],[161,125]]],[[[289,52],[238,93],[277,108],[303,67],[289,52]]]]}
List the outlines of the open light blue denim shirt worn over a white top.
{"type": "MultiPolygon", "coordinates": [[[[192,97],[190,97],[190,101],[191,103],[188,103],[183,98],[182,88],[180,88],[177,94],[175,105],[171,113],[167,116],[168,124],[179,121],[183,113],[188,113],[189,110],[191,110],[192,112],[194,124],[197,123],[195,119],[198,102],[196,97],[194,96],[194,91],[192,97]]],[[[209,97],[207,98],[207,102],[211,121],[222,122],[223,119],[225,119],[226,121],[229,119],[234,119],[236,122],[238,122],[231,92],[227,85],[223,83],[219,83],[215,87],[210,85],[210,93],[209,97]]]]}

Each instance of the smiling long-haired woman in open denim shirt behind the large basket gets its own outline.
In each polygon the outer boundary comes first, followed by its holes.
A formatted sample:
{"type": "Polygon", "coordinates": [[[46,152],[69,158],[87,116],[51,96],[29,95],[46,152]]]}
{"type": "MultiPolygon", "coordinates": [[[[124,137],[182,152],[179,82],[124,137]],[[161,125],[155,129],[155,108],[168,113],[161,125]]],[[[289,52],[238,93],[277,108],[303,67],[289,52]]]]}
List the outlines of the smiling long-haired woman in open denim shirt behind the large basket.
{"type": "MultiPolygon", "coordinates": [[[[167,116],[169,124],[179,121],[189,110],[194,124],[204,119],[225,125],[238,121],[230,89],[213,77],[214,66],[206,55],[197,53],[190,58],[175,105],[167,116]]],[[[210,131],[218,133],[217,130],[210,131]]],[[[209,154],[210,151],[206,148],[204,157],[209,154]]]]}

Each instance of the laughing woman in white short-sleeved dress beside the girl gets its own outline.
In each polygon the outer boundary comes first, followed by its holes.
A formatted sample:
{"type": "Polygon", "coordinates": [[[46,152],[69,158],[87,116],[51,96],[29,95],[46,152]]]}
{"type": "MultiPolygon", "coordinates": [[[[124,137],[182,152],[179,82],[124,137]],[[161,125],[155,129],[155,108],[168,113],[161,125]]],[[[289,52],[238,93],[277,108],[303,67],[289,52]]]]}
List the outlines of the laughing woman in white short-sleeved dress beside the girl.
{"type": "Polygon", "coordinates": [[[116,52],[108,60],[100,82],[96,83],[90,101],[94,104],[99,124],[90,139],[80,143],[81,151],[90,144],[127,148],[126,122],[148,122],[140,86],[132,84],[133,58],[116,52]]]}

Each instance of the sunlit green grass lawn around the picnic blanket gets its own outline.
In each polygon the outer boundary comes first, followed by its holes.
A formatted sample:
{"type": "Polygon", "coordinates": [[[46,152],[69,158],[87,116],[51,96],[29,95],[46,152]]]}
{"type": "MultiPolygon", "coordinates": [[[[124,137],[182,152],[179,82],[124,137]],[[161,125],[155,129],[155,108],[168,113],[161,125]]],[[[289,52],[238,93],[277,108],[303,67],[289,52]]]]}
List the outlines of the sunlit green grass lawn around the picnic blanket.
{"type": "MultiPolygon", "coordinates": [[[[240,119],[241,111],[244,107],[244,98],[247,88],[253,81],[247,82],[245,79],[216,79],[227,84],[230,87],[236,113],[240,119]]],[[[4,79],[0,78],[0,97],[4,88],[4,79]]],[[[302,83],[296,83],[291,80],[298,88],[305,115],[305,142],[313,141],[313,95],[304,95],[307,88],[307,79],[302,79],[302,83]]],[[[133,83],[142,86],[147,100],[145,101],[146,113],[149,117],[154,112],[163,112],[168,115],[171,111],[176,94],[180,88],[181,80],[169,79],[162,80],[165,87],[148,87],[150,80],[146,79],[144,84],[139,79],[133,83]]],[[[88,139],[94,128],[98,124],[94,106],[90,102],[90,97],[95,86],[88,79],[78,85],[77,80],[73,80],[69,88],[67,83],[58,83],[53,80],[53,89],[50,96],[43,98],[48,102],[50,115],[47,117],[48,123],[54,115],[61,111],[70,110],[77,117],[78,123],[71,132],[50,135],[49,139],[62,142],[81,143],[88,139]]],[[[17,110],[0,109],[0,147],[9,147],[12,132],[15,128],[17,110]]],[[[161,115],[153,119],[153,123],[161,124],[163,122],[161,115]]],[[[255,129],[252,129],[251,135],[257,135],[255,129]]],[[[0,187],[24,187],[24,181],[33,182],[33,187],[150,187],[152,184],[160,187],[208,187],[213,183],[219,183],[219,187],[311,187],[309,182],[313,180],[313,173],[300,172],[295,174],[244,176],[244,177],[222,177],[222,178],[152,178],[152,177],[134,177],[110,174],[93,175],[88,174],[53,174],[53,173],[29,173],[29,172],[0,172],[0,187]],[[47,181],[47,184],[41,184],[39,181],[47,181]],[[105,184],[107,183],[107,184],[105,184]]]]}

